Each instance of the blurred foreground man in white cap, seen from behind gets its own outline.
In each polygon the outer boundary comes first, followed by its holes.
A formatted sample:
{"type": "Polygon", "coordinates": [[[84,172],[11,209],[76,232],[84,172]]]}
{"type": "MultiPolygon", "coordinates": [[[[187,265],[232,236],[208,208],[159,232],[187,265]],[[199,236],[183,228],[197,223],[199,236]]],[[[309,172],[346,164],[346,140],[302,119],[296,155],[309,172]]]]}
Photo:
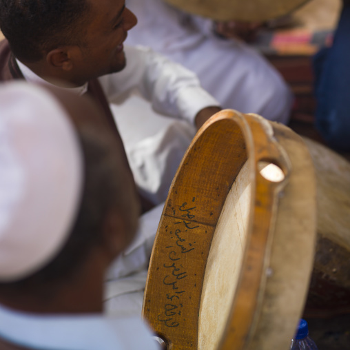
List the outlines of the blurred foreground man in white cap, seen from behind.
{"type": "Polygon", "coordinates": [[[102,314],[139,203],[99,113],[66,92],[0,87],[0,349],[157,348],[140,319],[102,314]]]}

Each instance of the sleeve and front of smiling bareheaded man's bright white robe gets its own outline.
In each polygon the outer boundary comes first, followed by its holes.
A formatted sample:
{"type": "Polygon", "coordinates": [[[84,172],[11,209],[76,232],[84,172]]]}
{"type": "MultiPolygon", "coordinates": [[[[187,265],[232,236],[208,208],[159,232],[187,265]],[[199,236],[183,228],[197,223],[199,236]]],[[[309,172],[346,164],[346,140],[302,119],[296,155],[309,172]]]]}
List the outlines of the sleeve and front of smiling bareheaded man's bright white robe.
{"type": "Polygon", "coordinates": [[[125,56],[123,71],[99,81],[113,103],[116,125],[123,123],[119,130],[136,185],[159,204],[192,140],[196,114],[219,103],[200,87],[196,74],[149,48],[126,47],[125,56]],[[131,133],[137,142],[125,136],[131,133]]]}

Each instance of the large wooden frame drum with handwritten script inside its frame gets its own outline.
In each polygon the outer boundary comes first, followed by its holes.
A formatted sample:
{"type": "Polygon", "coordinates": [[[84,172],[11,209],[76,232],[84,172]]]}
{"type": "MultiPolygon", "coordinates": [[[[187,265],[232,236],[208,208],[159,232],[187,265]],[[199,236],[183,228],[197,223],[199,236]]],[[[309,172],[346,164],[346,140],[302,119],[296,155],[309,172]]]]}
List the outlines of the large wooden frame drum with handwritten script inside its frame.
{"type": "Polygon", "coordinates": [[[198,131],[172,182],[143,318],[168,349],[287,349],[315,241],[315,174],[302,139],[223,110],[198,131]]]}

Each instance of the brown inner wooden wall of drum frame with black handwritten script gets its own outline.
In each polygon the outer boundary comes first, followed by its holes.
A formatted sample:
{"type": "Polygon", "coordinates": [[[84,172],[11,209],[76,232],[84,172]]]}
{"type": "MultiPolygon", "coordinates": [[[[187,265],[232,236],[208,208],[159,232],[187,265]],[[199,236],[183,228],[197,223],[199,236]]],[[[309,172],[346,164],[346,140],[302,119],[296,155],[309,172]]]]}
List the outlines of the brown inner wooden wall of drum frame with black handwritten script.
{"type": "Polygon", "coordinates": [[[171,329],[174,349],[197,349],[200,295],[212,236],[229,189],[247,161],[236,123],[222,119],[207,130],[194,138],[172,183],[145,290],[143,316],[165,338],[171,329]],[[218,132],[222,128],[225,134],[218,132]]]}

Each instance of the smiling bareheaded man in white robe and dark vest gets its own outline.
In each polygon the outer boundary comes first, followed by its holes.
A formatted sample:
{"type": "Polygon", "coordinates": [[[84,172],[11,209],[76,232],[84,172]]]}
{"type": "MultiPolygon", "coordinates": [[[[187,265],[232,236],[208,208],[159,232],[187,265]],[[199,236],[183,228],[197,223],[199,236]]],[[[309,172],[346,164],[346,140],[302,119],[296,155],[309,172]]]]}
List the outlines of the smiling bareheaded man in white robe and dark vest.
{"type": "MultiPolygon", "coordinates": [[[[145,202],[154,205],[165,200],[193,136],[187,130],[220,110],[216,99],[200,87],[196,75],[150,49],[123,47],[127,32],[136,25],[136,17],[124,0],[0,0],[0,8],[0,28],[6,37],[0,42],[0,81],[25,79],[90,95],[102,107],[101,119],[110,123],[119,143],[114,115],[123,114],[128,119],[133,111],[122,110],[121,105],[135,90],[152,103],[154,110],[172,116],[175,127],[172,124],[169,132],[157,134],[152,128],[158,125],[152,125],[145,110],[137,108],[135,113],[143,123],[132,128],[136,144],[126,147],[145,202]],[[147,131],[150,137],[141,140],[147,131]]],[[[149,207],[144,205],[143,209],[149,207]]],[[[162,206],[150,214],[153,220],[147,222],[152,223],[151,228],[146,229],[141,220],[136,240],[114,265],[108,280],[129,278],[134,273],[137,278],[132,290],[128,287],[122,291],[125,284],[118,291],[108,288],[112,309],[129,309],[124,300],[119,305],[114,301],[117,294],[134,291],[133,295],[138,295],[137,313],[141,313],[146,268],[161,212],[162,206]]]]}

